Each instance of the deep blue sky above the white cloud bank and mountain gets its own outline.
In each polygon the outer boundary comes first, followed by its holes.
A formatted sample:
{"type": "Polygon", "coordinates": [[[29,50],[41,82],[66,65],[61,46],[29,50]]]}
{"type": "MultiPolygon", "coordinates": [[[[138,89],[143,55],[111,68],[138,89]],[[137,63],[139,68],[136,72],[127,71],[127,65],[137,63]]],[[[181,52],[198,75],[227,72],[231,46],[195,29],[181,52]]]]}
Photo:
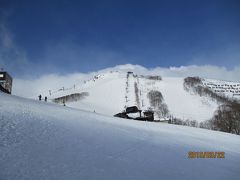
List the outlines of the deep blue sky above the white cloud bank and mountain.
{"type": "Polygon", "coordinates": [[[240,64],[239,0],[0,0],[0,66],[13,75],[119,64],[240,64]]]}

